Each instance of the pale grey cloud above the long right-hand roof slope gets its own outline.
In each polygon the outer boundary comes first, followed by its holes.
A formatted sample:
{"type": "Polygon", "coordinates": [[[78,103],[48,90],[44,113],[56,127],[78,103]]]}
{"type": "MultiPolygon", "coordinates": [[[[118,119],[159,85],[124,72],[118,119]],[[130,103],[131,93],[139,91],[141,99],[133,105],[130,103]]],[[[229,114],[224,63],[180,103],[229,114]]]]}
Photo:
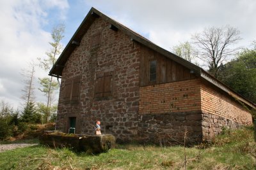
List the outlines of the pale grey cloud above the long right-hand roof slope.
{"type": "Polygon", "coordinates": [[[242,45],[256,37],[256,1],[253,0],[131,0],[85,1],[110,17],[148,35],[154,43],[167,48],[189,40],[191,34],[204,27],[231,25],[241,31],[242,45]],[[250,25],[250,26],[249,26],[250,25]],[[248,27],[249,26],[249,27],[248,27]]]}

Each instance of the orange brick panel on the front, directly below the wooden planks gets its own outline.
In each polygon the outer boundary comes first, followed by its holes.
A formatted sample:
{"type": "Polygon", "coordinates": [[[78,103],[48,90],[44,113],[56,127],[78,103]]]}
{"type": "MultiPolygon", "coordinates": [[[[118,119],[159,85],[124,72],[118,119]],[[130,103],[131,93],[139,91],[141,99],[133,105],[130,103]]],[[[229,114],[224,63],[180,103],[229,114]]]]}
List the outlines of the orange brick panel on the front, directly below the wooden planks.
{"type": "Polygon", "coordinates": [[[176,81],[140,87],[139,113],[198,111],[200,80],[176,81]]]}

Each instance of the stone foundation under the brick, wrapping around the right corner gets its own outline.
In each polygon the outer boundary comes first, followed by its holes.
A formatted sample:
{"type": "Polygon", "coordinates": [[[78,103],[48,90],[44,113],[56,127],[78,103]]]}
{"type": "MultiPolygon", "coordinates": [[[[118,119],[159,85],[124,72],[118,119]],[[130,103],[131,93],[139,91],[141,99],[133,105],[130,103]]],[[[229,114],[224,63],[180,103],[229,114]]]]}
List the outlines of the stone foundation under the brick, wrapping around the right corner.
{"type": "Polygon", "coordinates": [[[140,114],[138,138],[141,143],[157,145],[186,145],[211,140],[223,129],[237,129],[243,126],[229,118],[190,111],[181,113],[140,114]]]}

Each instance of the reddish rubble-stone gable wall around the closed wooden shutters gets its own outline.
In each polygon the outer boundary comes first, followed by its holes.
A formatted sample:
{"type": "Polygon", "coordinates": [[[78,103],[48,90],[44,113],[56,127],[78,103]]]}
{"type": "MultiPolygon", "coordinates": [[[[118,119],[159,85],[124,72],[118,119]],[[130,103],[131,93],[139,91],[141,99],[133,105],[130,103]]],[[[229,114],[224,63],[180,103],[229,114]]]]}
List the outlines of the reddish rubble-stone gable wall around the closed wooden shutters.
{"type": "Polygon", "coordinates": [[[68,117],[76,117],[76,132],[93,134],[95,120],[101,120],[103,133],[134,139],[138,129],[139,53],[140,46],[129,36],[109,29],[108,22],[97,18],[63,69],[58,129],[67,132],[68,117]],[[92,48],[92,36],[99,32],[100,45],[92,48]],[[96,74],[104,72],[113,73],[111,97],[95,99],[96,74]],[[77,75],[81,76],[79,103],[65,104],[65,81],[77,75]]]}

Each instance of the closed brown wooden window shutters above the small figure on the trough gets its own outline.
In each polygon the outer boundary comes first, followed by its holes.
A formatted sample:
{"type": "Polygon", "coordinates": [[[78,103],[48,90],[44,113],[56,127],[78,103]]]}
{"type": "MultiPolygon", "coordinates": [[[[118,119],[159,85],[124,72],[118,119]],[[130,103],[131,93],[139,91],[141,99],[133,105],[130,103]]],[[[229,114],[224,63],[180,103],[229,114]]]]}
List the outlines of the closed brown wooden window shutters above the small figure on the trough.
{"type": "Polygon", "coordinates": [[[112,72],[96,74],[95,98],[110,97],[112,89],[112,72]]]}

